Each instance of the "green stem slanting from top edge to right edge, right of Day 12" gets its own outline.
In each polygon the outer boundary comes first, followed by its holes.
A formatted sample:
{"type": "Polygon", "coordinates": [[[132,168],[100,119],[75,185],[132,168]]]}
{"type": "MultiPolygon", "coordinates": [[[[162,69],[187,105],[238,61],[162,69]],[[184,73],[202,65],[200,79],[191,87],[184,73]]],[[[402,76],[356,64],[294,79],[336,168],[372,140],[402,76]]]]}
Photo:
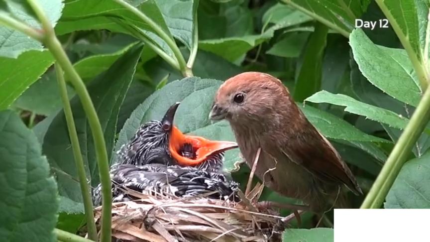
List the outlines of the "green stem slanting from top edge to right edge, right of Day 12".
{"type": "MultiPolygon", "coordinates": [[[[402,43],[403,47],[405,48],[406,52],[408,53],[409,59],[412,62],[412,65],[414,66],[415,72],[417,73],[418,79],[420,80],[421,84],[421,90],[427,90],[428,83],[428,73],[427,73],[427,67],[426,65],[423,65],[421,60],[419,59],[419,53],[416,53],[414,49],[412,48],[411,42],[409,41],[408,36],[405,36],[405,34],[402,32],[402,28],[399,26],[399,24],[396,21],[396,18],[391,14],[388,7],[385,5],[383,0],[376,0],[376,3],[378,3],[379,8],[381,8],[382,12],[385,14],[385,16],[388,18],[388,20],[391,23],[391,26],[393,27],[394,32],[396,32],[397,36],[400,39],[400,42],[402,43]]],[[[428,53],[425,53],[427,55],[428,53]]],[[[420,56],[421,58],[421,56],[420,56]]]]}

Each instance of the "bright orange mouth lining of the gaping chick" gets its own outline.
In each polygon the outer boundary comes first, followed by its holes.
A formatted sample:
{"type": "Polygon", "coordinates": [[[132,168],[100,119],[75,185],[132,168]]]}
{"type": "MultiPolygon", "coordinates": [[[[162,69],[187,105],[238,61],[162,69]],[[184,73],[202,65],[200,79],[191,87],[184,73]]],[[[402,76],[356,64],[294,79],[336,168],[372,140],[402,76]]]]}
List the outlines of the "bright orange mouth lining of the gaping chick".
{"type": "Polygon", "coordinates": [[[237,143],[230,141],[212,141],[199,136],[186,135],[176,126],[172,127],[169,139],[170,155],[183,166],[195,166],[204,162],[210,155],[227,149],[236,148],[237,143]],[[196,152],[196,159],[190,159],[180,154],[184,144],[191,144],[196,152]]]}

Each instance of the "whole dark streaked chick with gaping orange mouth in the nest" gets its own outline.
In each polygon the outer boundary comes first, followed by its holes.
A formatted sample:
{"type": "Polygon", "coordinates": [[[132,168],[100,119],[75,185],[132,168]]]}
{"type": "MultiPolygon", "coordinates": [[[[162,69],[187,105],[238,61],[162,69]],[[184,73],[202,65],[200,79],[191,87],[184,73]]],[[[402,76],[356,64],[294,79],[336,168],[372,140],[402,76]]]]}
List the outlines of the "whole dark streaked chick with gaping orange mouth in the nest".
{"type": "MultiPolygon", "coordinates": [[[[133,199],[124,189],[178,197],[216,192],[210,197],[237,198],[237,183],[222,174],[223,151],[237,144],[184,135],[173,125],[178,105],[171,106],[161,121],[142,124],[121,146],[110,170],[113,201],[133,199]]],[[[93,200],[96,205],[101,202],[100,185],[93,192],[93,200]]]]}

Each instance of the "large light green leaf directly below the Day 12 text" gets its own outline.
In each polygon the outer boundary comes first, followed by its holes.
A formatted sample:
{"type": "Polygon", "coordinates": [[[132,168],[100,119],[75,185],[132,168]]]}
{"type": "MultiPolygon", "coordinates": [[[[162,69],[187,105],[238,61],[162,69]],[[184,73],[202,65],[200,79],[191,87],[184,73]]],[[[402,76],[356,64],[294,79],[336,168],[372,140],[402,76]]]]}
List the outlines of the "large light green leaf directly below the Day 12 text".
{"type": "Polygon", "coordinates": [[[378,46],[361,29],[351,33],[350,45],[361,73],[395,99],[417,106],[421,89],[405,50],[378,46]]]}

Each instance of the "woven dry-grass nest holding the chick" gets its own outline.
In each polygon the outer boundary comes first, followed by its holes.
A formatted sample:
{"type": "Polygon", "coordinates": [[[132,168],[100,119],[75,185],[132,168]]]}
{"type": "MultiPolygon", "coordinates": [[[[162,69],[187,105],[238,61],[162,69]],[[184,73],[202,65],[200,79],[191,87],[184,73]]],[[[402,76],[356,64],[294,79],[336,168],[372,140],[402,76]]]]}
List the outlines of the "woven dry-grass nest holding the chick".
{"type": "MultiPolygon", "coordinates": [[[[134,201],[113,203],[112,236],[132,242],[281,241],[284,217],[243,202],[204,197],[178,198],[133,194],[134,201]]],[[[249,200],[248,200],[249,201],[249,200]]],[[[95,216],[100,223],[101,207],[95,216]]]]}

